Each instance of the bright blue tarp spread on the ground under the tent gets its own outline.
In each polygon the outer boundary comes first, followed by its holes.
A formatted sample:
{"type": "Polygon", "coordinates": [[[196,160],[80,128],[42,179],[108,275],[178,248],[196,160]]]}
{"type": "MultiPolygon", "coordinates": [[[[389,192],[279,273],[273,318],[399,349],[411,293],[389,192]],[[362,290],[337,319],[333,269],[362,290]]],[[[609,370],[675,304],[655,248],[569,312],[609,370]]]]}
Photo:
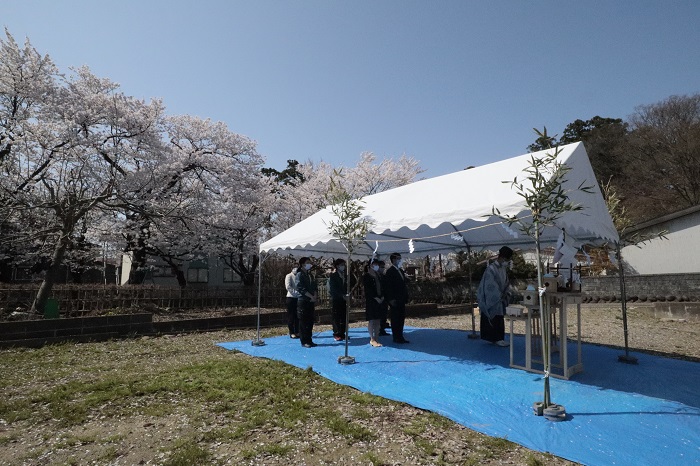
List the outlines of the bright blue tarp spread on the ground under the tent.
{"type": "MultiPolygon", "coordinates": [[[[470,429],[505,437],[527,448],[590,465],[700,464],[700,364],[635,353],[638,365],[617,361],[620,350],[583,345],[584,372],[551,378],[552,401],[567,418],[535,416],[542,375],[509,367],[508,348],[468,339],[459,330],[407,328],[408,345],[382,337],[368,344],[367,330],[350,329],[352,365],[338,364],[345,342],[330,332],[314,335],[316,348],[287,336],[229,350],[276,359],[363,392],[405,402],[470,429]]],[[[524,338],[513,342],[522,352],[524,338]]],[[[569,352],[575,351],[569,345],[569,352]]]]}

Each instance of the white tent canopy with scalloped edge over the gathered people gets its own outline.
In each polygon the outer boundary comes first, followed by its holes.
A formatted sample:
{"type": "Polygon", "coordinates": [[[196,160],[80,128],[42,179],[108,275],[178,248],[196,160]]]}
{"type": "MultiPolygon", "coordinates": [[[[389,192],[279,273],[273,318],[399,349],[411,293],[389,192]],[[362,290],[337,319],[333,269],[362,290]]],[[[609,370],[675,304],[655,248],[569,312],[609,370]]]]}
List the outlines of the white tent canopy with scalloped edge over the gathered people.
{"type": "MultiPolygon", "coordinates": [[[[516,225],[509,228],[491,213],[495,207],[501,214],[529,215],[525,200],[510,181],[516,177],[524,180],[531,157],[540,158],[545,153],[525,154],[363,198],[364,214],[374,223],[364,244],[353,255],[369,258],[375,249],[381,256],[392,252],[425,256],[467,247],[494,250],[503,245],[533,249],[532,238],[516,225]]],[[[547,227],[541,244],[556,244],[562,230],[567,243],[577,247],[619,241],[583,144],[560,147],[557,160],[570,168],[563,188],[570,201],[583,209],[567,212],[555,227],[547,227]],[[579,190],[580,186],[592,186],[592,193],[579,190]]],[[[261,244],[260,252],[296,257],[344,256],[345,248],[328,232],[333,220],[335,215],[326,207],[261,244]]]]}

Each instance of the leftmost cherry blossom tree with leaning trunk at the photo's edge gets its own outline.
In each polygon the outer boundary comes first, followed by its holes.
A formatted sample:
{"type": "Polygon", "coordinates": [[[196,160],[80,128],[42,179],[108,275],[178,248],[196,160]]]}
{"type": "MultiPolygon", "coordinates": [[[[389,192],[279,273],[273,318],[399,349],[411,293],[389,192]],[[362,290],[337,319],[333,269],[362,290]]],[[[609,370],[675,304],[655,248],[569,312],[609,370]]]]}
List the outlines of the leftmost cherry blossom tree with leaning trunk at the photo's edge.
{"type": "MultiPolygon", "coordinates": [[[[12,49],[16,44],[8,39],[3,45],[12,49]]],[[[16,64],[20,67],[36,67],[39,61],[28,47],[14,56],[24,58],[16,64]]],[[[87,68],[67,78],[24,72],[19,76],[37,79],[39,84],[16,86],[13,94],[4,95],[10,103],[25,102],[26,111],[15,111],[20,129],[14,133],[20,137],[6,137],[10,142],[3,151],[2,191],[8,220],[22,225],[10,239],[30,245],[28,251],[34,257],[48,259],[32,305],[40,312],[76,228],[87,228],[88,213],[114,197],[134,155],[154,138],[153,122],[161,106],[119,93],[116,84],[95,77],[87,68]],[[49,80],[52,84],[47,84],[49,80]],[[26,91],[38,86],[45,90],[38,97],[26,91]],[[32,98],[37,99],[35,103],[26,104],[32,98]]]]}

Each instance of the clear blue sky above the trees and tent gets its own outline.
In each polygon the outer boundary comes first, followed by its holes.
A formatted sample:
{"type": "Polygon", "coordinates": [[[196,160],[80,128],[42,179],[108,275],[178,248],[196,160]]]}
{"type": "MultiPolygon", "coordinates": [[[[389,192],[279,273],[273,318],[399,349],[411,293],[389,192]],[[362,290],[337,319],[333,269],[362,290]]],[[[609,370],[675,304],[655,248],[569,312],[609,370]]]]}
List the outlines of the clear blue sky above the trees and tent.
{"type": "Polygon", "coordinates": [[[371,151],[432,177],[700,92],[696,0],[3,0],[0,24],[277,169],[371,151]]]}

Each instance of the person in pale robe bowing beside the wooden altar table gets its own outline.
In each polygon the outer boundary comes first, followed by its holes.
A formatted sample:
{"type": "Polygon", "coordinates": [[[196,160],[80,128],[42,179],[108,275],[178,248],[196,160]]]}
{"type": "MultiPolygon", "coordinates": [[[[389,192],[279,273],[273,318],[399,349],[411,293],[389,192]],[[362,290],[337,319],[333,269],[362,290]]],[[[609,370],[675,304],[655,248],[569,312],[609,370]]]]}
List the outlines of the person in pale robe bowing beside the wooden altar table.
{"type": "Polygon", "coordinates": [[[510,282],[507,269],[512,258],[511,248],[503,246],[499,249],[498,258],[486,267],[476,292],[481,314],[481,339],[498,346],[508,346],[503,316],[508,305],[510,282]]]}

